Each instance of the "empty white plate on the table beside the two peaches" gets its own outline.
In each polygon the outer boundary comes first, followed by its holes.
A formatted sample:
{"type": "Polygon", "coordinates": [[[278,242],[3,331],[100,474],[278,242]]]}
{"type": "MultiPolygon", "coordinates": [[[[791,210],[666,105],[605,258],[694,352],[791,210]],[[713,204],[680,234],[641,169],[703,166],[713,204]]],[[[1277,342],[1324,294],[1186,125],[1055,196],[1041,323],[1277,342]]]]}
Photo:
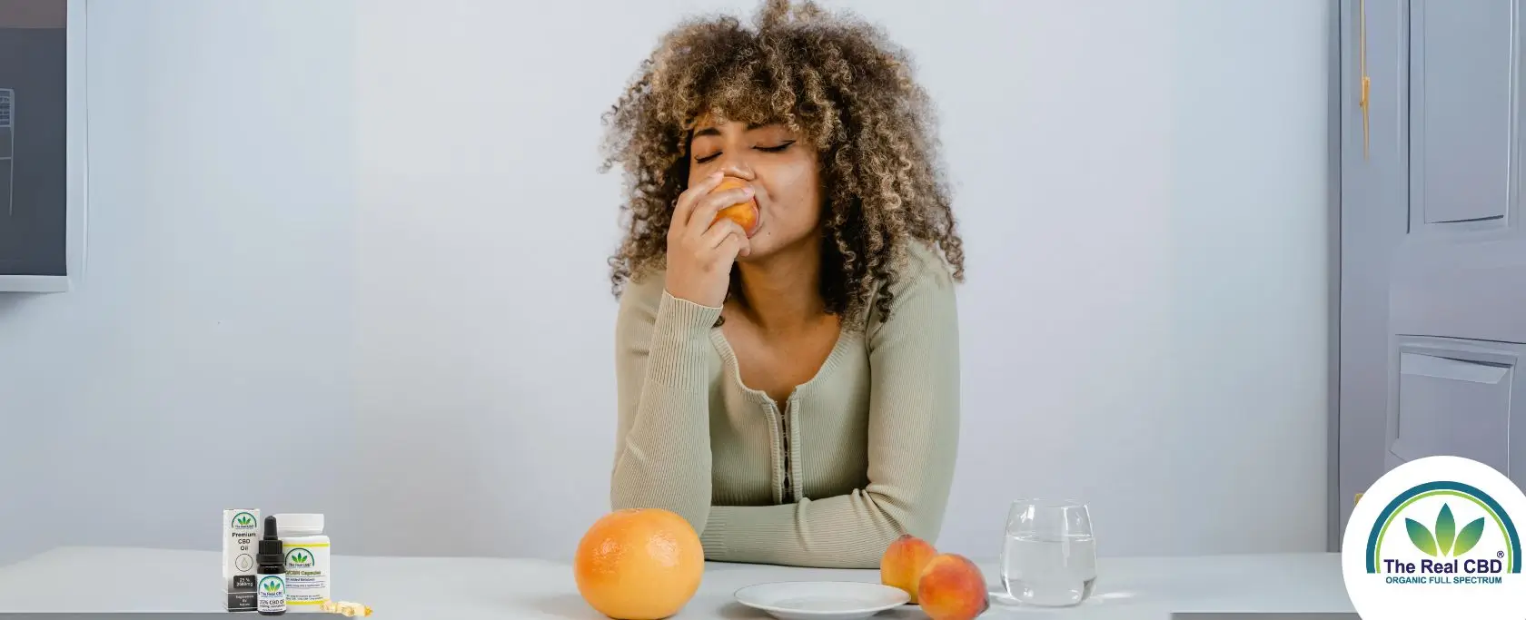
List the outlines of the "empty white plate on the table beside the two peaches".
{"type": "Polygon", "coordinates": [[[900,588],[867,582],[777,582],[737,590],[737,602],[780,620],[867,618],[911,600],[900,588]]]}

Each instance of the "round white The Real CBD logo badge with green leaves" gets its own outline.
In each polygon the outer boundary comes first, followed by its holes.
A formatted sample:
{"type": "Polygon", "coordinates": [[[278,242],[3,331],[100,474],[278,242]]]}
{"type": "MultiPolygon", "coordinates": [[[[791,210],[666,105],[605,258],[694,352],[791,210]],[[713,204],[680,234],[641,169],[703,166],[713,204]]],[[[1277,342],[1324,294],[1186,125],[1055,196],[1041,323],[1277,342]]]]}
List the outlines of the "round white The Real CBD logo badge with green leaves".
{"type": "Polygon", "coordinates": [[[1488,465],[1427,457],[1361,495],[1341,541],[1346,594],[1364,620],[1520,620],[1526,495],[1488,465]]]}

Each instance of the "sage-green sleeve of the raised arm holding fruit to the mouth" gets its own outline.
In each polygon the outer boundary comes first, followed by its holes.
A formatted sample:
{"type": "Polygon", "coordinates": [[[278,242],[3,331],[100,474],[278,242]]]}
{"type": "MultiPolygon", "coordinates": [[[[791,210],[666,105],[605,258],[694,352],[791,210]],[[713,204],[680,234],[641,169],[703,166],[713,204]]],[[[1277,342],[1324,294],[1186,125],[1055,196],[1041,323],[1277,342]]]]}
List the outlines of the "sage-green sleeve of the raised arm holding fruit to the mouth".
{"type": "Polygon", "coordinates": [[[720,308],[632,283],[615,321],[618,423],[610,504],[673,510],[702,532],[710,515],[705,350],[720,308]]]}

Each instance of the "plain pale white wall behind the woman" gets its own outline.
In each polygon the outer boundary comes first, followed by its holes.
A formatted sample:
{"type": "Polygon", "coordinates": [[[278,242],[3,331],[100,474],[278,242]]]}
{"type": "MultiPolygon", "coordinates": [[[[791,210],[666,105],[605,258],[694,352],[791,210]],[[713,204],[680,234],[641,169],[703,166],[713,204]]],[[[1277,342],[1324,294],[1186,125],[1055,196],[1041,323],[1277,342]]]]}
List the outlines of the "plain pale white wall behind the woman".
{"type": "MultiPolygon", "coordinates": [[[[61,542],[211,548],[256,504],[568,558],[613,440],[600,113],[681,14],[754,3],[133,5],[92,5],[85,286],[0,305],[0,402],[85,489],[58,523],[143,523],[61,542]],[[258,417],[296,440],[233,480],[258,417]]],[[[1106,554],[1322,550],[1326,3],[852,5],[917,55],[967,244],[940,547],[1064,494],[1106,554]]]]}

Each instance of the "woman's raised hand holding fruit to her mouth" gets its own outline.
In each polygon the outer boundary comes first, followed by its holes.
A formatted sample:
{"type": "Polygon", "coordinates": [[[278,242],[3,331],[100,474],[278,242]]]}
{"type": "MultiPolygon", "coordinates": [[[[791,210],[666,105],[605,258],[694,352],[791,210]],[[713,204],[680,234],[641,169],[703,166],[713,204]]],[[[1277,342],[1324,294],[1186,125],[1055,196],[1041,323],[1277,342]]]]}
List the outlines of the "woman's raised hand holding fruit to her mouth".
{"type": "Polygon", "coordinates": [[[678,197],[667,239],[667,292],[711,308],[725,303],[731,265],[751,251],[742,225],[731,219],[711,224],[720,209],[752,198],[752,187],[710,193],[720,178],[713,174],[678,197]]]}

